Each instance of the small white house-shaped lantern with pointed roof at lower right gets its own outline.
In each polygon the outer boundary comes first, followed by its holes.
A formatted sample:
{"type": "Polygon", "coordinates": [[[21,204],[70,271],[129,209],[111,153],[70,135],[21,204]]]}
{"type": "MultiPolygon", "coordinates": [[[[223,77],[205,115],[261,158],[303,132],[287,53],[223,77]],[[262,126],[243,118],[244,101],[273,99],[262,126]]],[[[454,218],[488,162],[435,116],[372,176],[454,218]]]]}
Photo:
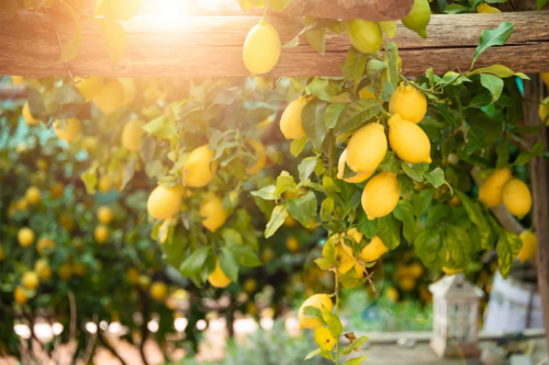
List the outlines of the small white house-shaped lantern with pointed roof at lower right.
{"type": "Polygon", "coordinates": [[[439,357],[479,355],[479,304],[484,292],[463,274],[445,276],[429,285],[433,293],[433,339],[430,346],[439,357]]]}

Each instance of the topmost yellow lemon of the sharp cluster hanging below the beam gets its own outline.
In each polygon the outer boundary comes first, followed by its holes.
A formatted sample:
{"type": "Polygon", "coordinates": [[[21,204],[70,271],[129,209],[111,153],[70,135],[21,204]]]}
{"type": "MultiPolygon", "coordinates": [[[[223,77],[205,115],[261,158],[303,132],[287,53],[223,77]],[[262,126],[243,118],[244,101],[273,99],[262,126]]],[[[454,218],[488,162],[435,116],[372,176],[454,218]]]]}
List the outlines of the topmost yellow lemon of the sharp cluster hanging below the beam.
{"type": "Polygon", "coordinates": [[[427,98],[413,85],[401,82],[391,95],[389,112],[400,114],[403,119],[417,124],[427,114],[427,98]]]}

